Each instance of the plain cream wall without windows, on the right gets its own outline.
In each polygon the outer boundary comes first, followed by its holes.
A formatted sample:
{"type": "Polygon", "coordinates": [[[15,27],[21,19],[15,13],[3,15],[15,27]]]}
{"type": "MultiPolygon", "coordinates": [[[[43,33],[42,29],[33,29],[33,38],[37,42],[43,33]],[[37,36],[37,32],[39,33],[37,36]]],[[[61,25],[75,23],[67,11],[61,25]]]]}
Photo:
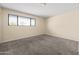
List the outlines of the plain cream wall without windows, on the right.
{"type": "Polygon", "coordinates": [[[79,41],[79,10],[50,17],[47,34],[79,41]]]}

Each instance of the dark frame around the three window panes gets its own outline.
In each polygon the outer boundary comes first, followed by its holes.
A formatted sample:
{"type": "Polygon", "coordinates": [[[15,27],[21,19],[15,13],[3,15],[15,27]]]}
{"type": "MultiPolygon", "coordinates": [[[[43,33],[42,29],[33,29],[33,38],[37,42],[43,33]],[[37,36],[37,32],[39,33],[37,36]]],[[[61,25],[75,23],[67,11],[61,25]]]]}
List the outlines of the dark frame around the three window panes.
{"type": "Polygon", "coordinates": [[[18,16],[18,15],[14,15],[14,14],[8,14],[8,26],[29,26],[29,27],[35,27],[36,26],[36,18],[25,17],[25,16],[18,16]],[[9,16],[10,15],[17,16],[17,25],[10,25],[9,24],[9,16]],[[18,21],[19,21],[18,17],[29,18],[30,19],[30,26],[29,25],[19,25],[19,23],[18,23],[18,21]],[[35,20],[35,25],[34,26],[31,25],[31,19],[35,20]]]}

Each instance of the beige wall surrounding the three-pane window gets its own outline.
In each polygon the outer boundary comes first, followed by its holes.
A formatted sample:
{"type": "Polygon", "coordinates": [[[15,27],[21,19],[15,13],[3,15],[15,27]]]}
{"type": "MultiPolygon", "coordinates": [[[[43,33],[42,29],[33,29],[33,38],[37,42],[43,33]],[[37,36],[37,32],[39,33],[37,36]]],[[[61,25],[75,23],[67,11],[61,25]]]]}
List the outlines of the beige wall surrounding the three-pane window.
{"type": "Polygon", "coordinates": [[[3,41],[2,42],[16,40],[20,38],[27,38],[30,36],[40,35],[44,33],[45,33],[45,21],[42,17],[32,16],[5,8],[3,9],[3,41]],[[36,18],[36,26],[35,27],[8,26],[8,14],[36,18]]]}

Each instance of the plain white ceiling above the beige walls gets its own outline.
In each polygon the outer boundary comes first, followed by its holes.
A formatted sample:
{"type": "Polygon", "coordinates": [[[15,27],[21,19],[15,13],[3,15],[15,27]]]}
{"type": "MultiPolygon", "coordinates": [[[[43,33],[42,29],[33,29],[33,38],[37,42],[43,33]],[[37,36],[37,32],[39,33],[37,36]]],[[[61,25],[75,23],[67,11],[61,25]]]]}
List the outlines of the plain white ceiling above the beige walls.
{"type": "Polygon", "coordinates": [[[78,3],[47,3],[46,6],[42,6],[42,3],[1,3],[0,5],[42,17],[55,16],[76,9],[79,10],[78,3]]]}

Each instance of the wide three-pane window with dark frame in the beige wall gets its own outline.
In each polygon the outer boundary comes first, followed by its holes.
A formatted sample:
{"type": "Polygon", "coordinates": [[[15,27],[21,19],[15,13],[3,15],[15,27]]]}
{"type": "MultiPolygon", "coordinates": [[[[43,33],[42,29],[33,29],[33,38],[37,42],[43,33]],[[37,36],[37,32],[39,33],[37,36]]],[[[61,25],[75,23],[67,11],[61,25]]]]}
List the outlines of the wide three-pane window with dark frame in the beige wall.
{"type": "Polygon", "coordinates": [[[35,26],[36,20],[30,17],[24,16],[15,16],[15,15],[8,15],[9,16],[9,25],[18,25],[18,26],[35,26]]]}

